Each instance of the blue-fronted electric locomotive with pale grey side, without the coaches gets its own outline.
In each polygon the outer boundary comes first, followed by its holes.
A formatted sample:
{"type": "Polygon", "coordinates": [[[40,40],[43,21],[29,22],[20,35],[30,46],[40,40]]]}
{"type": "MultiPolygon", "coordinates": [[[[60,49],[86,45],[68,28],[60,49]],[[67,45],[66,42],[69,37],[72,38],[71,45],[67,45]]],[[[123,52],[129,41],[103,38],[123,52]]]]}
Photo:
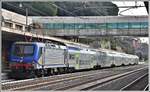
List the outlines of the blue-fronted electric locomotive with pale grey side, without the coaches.
{"type": "Polygon", "coordinates": [[[66,46],[50,44],[45,48],[44,43],[16,42],[11,49],[10,76],[31,78],[54,73],[67,67],[66,58],[66,46]]]}

